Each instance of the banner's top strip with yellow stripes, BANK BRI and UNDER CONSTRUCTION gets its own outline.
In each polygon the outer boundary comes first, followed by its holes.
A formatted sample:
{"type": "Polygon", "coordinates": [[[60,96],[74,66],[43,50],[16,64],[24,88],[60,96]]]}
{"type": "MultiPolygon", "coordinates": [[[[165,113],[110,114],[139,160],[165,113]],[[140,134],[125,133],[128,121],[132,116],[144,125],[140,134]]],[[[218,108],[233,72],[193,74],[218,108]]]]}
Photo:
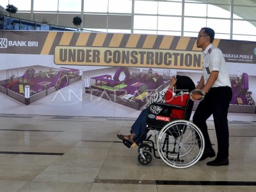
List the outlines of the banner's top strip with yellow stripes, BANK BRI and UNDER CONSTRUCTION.
{"type": "MultiPolygon", "coordinates": [[[[53,55],[56,65],[202,70],[195,37],[57,31],[1,31],[0,51],[53,55]]],[[[256,43],[215,39],[227,62],[256,63],[256,43]]]]}

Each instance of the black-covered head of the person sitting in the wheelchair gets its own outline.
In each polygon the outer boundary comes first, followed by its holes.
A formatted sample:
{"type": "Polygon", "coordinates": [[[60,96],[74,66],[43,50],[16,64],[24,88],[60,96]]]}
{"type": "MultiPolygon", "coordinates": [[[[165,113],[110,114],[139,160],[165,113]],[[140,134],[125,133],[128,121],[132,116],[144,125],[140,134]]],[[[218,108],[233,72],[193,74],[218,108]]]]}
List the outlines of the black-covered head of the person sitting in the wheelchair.
{"type": "Polygon", "coordinates": [[[195,83],[188,76],[176,76],[176,93],[195,90],[195,83]]]}

